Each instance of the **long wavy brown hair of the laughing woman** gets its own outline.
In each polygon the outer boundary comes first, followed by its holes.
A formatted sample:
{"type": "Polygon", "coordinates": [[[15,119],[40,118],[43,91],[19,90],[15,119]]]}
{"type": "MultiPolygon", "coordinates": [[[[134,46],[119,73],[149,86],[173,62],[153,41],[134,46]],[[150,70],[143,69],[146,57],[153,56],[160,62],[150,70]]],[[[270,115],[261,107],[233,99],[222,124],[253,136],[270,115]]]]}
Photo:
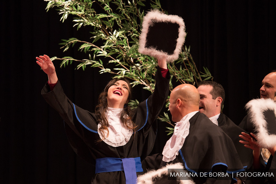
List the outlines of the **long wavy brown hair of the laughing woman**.
{"type": "MultiPolygon", "coordinates": [[[[102,133],[102,135],[105,137],[104,134],[104,130],[107,131],[107,136],[109,135],[109,131],[108,131],[108,120],[107,117],[105,115],[106,109],[107,109],[107,92],[110,86],[112,86],[113,84],[115,84],[115,82],[122,80],[125,81],[128,84],[128,99],[127,102],[130,101],[131,99],[131,86],[130,86],[130,82],[128,81],[128,79],[125,78],[119,78],[119,79],[113,79],[111,81],[109,81],[107,83],[107,85],[105,86],[105,89],[103,90],[103,92],[99,95],[99,99],[98,99],[98,105],[95,108],[95,114],[97,116],[97,119],[99,121],[99,123],[102,125],[99,128],[100,133],[102,133]]],[[[131,109],[130,106],[125,105],[126,107],[124,107],[121,116],[120,116],[120,120],[123,123],[123,125],[129,129],[132,129],[133,132],[135,132],[135,128],[136,125],[135,123],[132,121],[132,114],[133,111],[131,109]],[[126,116],[127,115],[127,116],[126,116]]],[[[100,140],[101,141],[101,140],[100,140]]]]}

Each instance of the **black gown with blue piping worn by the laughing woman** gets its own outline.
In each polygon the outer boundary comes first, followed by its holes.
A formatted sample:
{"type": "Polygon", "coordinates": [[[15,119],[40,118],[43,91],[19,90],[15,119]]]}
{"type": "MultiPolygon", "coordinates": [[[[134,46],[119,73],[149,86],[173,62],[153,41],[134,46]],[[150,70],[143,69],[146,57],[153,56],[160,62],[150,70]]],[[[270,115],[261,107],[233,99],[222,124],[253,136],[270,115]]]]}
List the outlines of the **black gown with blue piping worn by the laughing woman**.
{"type": "MultiPolygon", "coordinates": [[[[141,102],[132,121],[138,127],[135,136],[124,146],[112,147],[100,140],[98,121],[94,113],[90,113],[73,104],[64,94],[60,82],[50,91],[48,82],[42,89],[46,102],[58,111],[65,123],[68,140],[74,151],[83,159],[95,165],[98,158],[136,158],[143,160],[152,150],[156,131],[156,118],[162,110],[169,93],[170,75],[162,77],[159,67],[155,75],[155,90],[151,96],[141,102]]],[[[94,175],[92,183],[125,183],[124,171],[102,172],[94,175]]]]}

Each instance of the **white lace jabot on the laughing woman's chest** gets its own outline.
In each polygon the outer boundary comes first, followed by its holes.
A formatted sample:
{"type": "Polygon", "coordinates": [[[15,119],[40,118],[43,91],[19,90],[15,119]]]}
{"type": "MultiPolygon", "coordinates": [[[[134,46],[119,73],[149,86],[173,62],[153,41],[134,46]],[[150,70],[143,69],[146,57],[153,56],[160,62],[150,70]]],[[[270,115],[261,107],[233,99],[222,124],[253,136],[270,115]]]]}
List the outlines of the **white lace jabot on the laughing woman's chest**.
{"type": "MultiPolygon", "coordinates": [[[[104,136],[99,131],[101,124],[98,124],[98,133],[100,138],[108,145],[113,147],[123,146],[129,141],[133,131],[132,129],[126,128],[120,121],[121,112],[123,109],[107,107],[105,115],[109,123],[108,130],[103,130],[104,136]]],[[[130,125],[131,126],[131,125],[130,125]]]]}

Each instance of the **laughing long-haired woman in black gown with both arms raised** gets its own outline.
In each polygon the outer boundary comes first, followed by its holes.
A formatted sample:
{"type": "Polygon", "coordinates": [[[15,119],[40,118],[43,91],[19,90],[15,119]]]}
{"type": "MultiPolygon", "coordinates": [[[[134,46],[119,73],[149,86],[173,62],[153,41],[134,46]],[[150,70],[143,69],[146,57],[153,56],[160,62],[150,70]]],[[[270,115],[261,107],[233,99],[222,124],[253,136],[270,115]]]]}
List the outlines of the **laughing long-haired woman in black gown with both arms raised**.
{"type": "Polygon", "coordinates": [[[129,81],[113,79],[99,95],[95,113],[72,103],[64,94],[55,67],[47,56],[36,63],[48,75],[41,93],[58,111],[74,151],[95,166],[92,183],[136,183],[143,172],[143,160],[152,150],[157,131],[156,118],[168,93],[170,75],[165,59],[158,59],[155,90],[137,109],[127,105],[131,99],[129,81]]]}

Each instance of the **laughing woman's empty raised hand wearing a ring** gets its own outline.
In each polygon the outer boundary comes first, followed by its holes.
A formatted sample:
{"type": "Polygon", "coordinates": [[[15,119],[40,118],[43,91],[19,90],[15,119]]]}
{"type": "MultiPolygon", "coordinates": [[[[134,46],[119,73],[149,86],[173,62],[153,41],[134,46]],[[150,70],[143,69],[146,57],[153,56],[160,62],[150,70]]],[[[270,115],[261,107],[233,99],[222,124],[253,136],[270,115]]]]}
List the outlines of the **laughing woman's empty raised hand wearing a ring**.
{"type": "Polygon", "coordinates": [[[41,69],[48,75],[49,83],[54,84],[58,81],[57,75],[56,75],[56,69],[47,55],[36,57],[37,61],[36,63],[41,67],[41,69]]]}

